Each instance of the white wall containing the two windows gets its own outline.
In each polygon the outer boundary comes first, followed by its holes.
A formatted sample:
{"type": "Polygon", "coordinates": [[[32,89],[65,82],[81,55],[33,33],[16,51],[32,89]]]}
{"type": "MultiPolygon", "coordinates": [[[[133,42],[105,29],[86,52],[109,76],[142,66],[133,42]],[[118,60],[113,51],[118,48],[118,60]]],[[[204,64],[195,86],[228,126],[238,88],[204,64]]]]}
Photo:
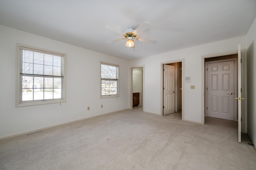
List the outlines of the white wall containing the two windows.
{"type": "Polygon", "coordinates": [[[3,25],[0,37],[0,138],[129,107],[126,60],[3,25]],[[67,54],[66,103],[15,107],[16,43],[67,54]],[[100,61],[119,65],[119,98],[100,99],[100,61]]]}

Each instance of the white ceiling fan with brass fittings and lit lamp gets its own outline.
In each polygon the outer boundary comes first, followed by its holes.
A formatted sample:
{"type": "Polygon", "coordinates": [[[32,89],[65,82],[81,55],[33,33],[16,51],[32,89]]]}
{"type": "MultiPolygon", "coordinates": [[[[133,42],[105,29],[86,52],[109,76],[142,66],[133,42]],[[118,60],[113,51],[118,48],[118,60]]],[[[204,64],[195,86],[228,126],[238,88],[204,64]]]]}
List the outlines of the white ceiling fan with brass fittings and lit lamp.
{"type": "MultiPolygon", "coordinates": [[[[138,37],[137,35],[143,31],[145,31],[146,29],[148,29],[150,27],[150,23],[148,22],[144,22],[142,23],[137,29],[133,29],[132,27],[129,27],[128,29],[126,29],[124,31],[124,33],[120,33],[122,35],[124,35],[124,38],[121,38],[121,39],[115,39],[115,40],[112,40],[112,41],[107,41],[106,43],[113,43],[113,42],[116,42],[116,41],[120,41],[122,39],[128,39],[127,42],[126,42],[126,46],[127,47],[131,47],[131,48],[134,48],[134,41],[133,39],[136,39],[137,41],[142,41],[142,42],[147,42],[147,43],[157,43],[156,40],[153,40],[153,39],[147,39],[147,38],[142,38],[142,37],[138,37]]],[[[109,25],[106,25],[106,28],[108,29],[112,29],[113,31],[116,31],[114,30],[112,27],[110,27],[109,25]]],[[[116,31],[119,33],[119,31],[116,31]]]]}

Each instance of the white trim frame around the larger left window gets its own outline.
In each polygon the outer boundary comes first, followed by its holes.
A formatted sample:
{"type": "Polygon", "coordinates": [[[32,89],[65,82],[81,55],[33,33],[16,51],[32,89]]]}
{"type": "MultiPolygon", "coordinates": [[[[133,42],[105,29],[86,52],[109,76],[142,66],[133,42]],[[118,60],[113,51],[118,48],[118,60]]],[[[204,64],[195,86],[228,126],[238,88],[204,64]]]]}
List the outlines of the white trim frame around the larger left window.
{"type": "Polygon", "coordinates": [[[16,100],[15,101],[16,107],[34,106],[34,105],[42,105],[42,104],[56,104],[56,103],[61,104],[61,103],[66,102],[66,54],[17,43],[16,44],[16,98],[15,98],[15,100],[16,100]],[[45,51],[46,53],[47,52],[56,53],[56,54],[64,56],[64,75],[63,75],[63,81],[62,81],[62,99],[21,102],[21,83],[22,83],[21,81],[22,80],[20,78],[20,47],[26,47],[26,48],[30,48],[30,49],[45,51]]]}

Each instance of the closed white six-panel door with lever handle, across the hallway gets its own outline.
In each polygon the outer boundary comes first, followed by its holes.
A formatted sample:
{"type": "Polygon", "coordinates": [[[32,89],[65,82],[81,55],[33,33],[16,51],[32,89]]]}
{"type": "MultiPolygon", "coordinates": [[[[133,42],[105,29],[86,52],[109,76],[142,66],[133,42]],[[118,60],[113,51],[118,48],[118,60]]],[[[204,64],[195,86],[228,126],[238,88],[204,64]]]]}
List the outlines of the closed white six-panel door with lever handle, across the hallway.
{"type": "Polygon", "coordinates": [[[207,64],[207,115],[234,121],[234,61],[207,64]]]}

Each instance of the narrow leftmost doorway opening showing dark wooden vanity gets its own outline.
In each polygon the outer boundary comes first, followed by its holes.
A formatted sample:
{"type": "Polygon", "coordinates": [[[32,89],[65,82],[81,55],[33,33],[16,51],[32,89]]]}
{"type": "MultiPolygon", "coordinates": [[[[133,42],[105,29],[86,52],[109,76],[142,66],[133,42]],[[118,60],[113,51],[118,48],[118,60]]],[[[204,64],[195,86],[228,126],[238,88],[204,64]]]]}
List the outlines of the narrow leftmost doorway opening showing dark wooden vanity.
{"type": "Polygon", "coordinates": [[[144,66],[132,67],[132,109],[143,109],[144,103],[144,66]]]}

